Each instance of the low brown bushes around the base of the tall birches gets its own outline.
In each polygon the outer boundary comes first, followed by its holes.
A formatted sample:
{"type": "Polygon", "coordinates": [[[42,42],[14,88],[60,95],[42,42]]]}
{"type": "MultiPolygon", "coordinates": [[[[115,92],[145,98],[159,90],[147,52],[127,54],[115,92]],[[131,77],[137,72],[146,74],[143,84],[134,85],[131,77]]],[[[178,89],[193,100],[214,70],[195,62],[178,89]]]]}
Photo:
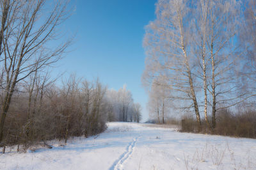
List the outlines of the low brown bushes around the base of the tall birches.
{"type": "MultiPolygon", "coordinates": [[[[186,116],[182,122],[181,132],[196,132],[196,120],[193,117],[186,116]]],[[[216,114],[216,128],[209,129],[202,120],[200,133],[256,138],[256,111],[234,114],[223,109],[216,114]]]]}

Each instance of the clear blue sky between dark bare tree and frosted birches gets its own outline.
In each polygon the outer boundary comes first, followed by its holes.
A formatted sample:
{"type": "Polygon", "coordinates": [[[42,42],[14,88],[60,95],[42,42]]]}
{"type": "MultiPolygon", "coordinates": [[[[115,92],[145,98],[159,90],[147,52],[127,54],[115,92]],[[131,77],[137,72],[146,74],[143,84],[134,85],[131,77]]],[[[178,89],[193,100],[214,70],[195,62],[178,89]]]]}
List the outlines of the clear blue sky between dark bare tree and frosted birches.
{"type": "Polygon", "coordinates": [[[88,80],[99,77],[108,88],[127,84],[134,102],[147,120],[147,93],[141,86],[145,53],[144,27],[154,19],[156,0],[76,0],[76,10],[65,22],[67,34],[76,38],[58,71],[76,73],[88,80]]]}

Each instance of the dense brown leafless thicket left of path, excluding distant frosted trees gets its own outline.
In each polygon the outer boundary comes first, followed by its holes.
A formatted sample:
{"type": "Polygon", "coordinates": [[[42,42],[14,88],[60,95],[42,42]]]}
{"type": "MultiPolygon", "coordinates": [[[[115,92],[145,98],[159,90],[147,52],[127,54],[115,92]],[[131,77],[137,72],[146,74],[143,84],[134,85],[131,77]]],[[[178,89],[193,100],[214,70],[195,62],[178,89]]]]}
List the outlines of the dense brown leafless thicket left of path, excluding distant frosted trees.
{"type": "Polygon", "coordinates": [[[4,124],[2,146],[99,134],[106,129],[106,87],[75,77],[29,93],[15,93],[4,124]],[[29,105],[29,101],[31,104],[29,105]],[[29,107],[30,106],[30,107],[29,107]]]}

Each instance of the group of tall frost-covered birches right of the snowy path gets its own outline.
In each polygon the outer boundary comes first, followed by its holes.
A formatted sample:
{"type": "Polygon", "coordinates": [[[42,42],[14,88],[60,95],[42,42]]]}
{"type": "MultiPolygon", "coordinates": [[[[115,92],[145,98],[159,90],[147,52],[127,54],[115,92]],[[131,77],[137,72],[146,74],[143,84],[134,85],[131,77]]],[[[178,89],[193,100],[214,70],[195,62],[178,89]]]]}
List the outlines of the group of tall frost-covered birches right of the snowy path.
{"type": "Polygon", "coordinates": [[[192,114],[191,131],[213,132],[227,109],[237,118],[255,111],[255,9],[255,1],[157,1],[144,37],[151,118],[192,114]]]}

